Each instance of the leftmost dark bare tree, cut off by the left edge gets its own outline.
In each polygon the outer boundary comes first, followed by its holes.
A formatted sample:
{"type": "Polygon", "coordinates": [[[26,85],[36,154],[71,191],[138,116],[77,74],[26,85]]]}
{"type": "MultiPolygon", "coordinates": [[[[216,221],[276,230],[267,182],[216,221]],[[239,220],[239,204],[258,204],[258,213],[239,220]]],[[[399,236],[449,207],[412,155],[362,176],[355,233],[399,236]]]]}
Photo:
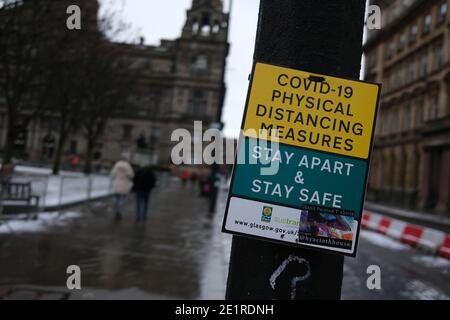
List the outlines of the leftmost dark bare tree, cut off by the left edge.
{"type": "Polygon", "coordinates": [[[46,35],[50,1],[0,2],[0,96],[6,109],[7,138],[3,162],[15,155],[15,141],[42,114],[49,93],[45,81],[46,35]]]}

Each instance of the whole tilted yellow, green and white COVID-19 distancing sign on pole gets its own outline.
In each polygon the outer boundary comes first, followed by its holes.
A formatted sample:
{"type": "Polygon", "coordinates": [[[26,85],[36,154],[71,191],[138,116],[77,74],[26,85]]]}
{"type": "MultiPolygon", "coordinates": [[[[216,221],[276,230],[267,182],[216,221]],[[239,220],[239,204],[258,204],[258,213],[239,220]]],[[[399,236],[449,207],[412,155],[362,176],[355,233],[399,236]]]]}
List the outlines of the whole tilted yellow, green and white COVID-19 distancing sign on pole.
{"type": "Polygon", "coordinates": [[[354,256],[380,89],[255,63],[223,231],[354,256]]]}

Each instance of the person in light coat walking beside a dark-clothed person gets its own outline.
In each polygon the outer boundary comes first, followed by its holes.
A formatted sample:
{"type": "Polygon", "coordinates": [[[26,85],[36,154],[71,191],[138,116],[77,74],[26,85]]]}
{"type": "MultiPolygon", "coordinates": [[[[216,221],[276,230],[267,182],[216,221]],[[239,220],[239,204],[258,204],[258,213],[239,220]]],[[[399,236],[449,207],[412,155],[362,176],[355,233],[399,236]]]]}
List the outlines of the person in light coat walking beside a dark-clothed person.
{"type": "Polygon", "coordinates": [[[120,220],[122,217],[121,209],[125,203],[127,195],[133,187],[134,171],[128,161],[120,160],[112,168],[111,177],[116,219],[120,220]]]}

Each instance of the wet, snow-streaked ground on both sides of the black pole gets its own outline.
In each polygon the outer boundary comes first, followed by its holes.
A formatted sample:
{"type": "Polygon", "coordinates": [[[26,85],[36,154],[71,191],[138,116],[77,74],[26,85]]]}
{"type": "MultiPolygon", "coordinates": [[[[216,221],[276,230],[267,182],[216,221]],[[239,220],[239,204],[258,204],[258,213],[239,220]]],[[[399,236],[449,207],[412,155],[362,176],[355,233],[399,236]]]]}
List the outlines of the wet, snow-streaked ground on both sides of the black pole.
{"type": "MultiPolygon", "coordinates": [[[[195,185],[172,178],[152,195],[146,223],[135,222],[130,198],[120,222],[102,200],[62,212],[59,223],[0,233],[0,299],[223,299],[225,197],[211,216],[195,185]],[[82,290],[67,290],[69,265],[80,266],[82,290]]],[[[450,261],[362,231],[357,258],[345,259],[342,298],[450,299],[450,261]],[[367,288],[371,265],[380,290],[367,288]]]]}

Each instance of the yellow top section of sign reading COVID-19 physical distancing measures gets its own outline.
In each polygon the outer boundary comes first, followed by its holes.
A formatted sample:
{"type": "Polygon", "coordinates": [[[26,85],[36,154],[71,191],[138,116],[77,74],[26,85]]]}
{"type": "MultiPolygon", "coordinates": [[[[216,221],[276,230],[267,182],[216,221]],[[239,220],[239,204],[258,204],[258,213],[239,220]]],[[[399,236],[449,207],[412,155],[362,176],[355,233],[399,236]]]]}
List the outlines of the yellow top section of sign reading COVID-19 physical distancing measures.
{"type": "Polygon", "coordinates": [[[256,63],[244,134],[369,157],[380,85],[256,63]]]}

